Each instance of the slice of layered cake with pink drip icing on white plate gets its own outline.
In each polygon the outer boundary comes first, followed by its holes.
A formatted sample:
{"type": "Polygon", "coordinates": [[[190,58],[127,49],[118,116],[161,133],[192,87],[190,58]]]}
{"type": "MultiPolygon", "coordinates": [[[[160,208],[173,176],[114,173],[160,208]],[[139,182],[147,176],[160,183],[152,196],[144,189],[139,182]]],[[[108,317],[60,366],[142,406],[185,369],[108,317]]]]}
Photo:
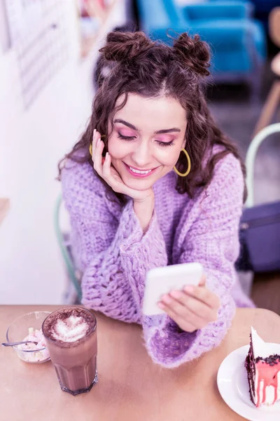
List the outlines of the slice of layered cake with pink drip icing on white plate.
{"type": "Polygon", "coordinates": [[[280,355],[274,354],[254,328],[245,359],[251,401],[257,407],[280,399],[280,355]]]}

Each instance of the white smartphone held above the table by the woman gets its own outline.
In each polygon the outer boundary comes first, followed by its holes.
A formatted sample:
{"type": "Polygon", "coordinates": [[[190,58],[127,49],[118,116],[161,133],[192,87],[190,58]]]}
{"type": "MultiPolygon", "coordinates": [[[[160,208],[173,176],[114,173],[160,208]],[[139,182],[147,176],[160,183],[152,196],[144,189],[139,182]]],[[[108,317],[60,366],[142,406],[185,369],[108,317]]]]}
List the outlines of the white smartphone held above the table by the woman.
{"type": "Polygon", "coordinates": [[[143,313],[146,316],[165,313],[158,307],[162,295],[172,290],[182,290],[186,285],[197,286],[202,274],[203,266],[200,263],[182,263],[151,269],[146,276],[143,313]]]}

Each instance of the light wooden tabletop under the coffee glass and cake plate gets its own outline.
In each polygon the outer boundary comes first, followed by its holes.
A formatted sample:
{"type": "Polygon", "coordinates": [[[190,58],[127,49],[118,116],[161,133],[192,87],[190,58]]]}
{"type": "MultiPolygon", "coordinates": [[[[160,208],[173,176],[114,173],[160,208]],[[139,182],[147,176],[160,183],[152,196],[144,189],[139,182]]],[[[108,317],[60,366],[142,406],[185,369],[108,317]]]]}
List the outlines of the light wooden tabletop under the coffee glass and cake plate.
{"type": "MultiPolygon", "coordinates": [[[[57,306],[1,306],[0,339],[15,317],[57,306]]],[[[280,317],[237,309],[220,347],[176,369],[154,364],[141,328],[97,315],[99,383],[88,394],[62,392],[52,363],[31,365],[0,347],[1,420],[9,421],[227,421],[244,420],[221,398],[216,375],[234,349],[248,344],[253,325],[264,340],[280,342],[280,317]]]]}

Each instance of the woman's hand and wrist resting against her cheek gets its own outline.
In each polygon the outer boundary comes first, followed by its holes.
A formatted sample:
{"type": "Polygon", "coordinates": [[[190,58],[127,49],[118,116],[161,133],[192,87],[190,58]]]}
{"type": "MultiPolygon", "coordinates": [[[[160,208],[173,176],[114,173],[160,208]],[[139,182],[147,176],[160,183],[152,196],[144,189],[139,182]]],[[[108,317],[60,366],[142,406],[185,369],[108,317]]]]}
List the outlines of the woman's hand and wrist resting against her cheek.
{"type": "Polygon", "coordinates": [[[133,199],[134,212],[139,219],[141,228],[145,231],[151,221],[154,208],[153,189],[136,190],[131,189],[120,178],[120,174],[111,166],[111,156],[106,153],[105,159],[102,156],[104,142],[101,135],[94,129],[92,138],[92,161],[93,168],[116,193],[126,194],[133,199]]]}

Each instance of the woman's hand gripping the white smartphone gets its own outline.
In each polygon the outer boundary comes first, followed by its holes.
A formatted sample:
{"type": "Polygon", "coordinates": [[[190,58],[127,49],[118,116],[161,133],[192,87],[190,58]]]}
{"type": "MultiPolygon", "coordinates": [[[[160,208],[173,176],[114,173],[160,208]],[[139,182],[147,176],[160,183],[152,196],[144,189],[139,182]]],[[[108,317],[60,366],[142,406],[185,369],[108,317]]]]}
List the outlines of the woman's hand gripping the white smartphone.
{"type": "Polygon", "coordinates": [[[163,295],[158,306],[186,332],[204,328],[218,318],[220,299],[206,286],[206,277],[202,276],[199,286],[186,286],[183,290],[174,290],[163,295]]]}

